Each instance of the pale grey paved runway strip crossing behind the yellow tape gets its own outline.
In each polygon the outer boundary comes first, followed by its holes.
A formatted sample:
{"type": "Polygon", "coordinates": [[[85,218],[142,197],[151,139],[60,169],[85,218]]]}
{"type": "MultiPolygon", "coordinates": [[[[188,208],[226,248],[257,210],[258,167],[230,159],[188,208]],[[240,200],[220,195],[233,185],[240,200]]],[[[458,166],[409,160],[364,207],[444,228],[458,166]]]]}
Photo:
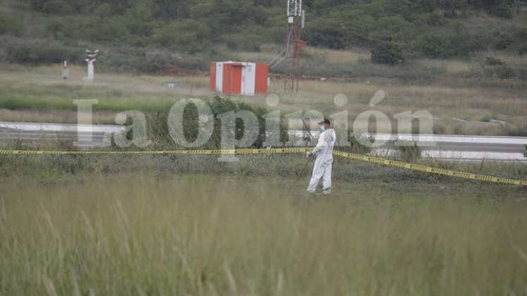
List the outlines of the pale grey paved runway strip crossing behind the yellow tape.
{"type": "MultiPolygon", "coordinates": [[[[42,144],[57,140],[77,142],[79,147],[109,147],[115,132],[123,130],[119,125],[72,125],[50,123],[8,123],[0,122],[0,144],[19,141],[23,144],[42,144]]],[[[305,132],[292,131],[291,135],[301,138],[305,132]]],[[[317,132],[312,132],[317,136],[317,132]]],[[[384,142],[373,154],[396,154],[396,141],[416,142],[422,149],[423,157],[435,159],[482,160],[496,159],[527,161],[527,137],[485,137],[457,135],[363,135],[384,142]]]]}

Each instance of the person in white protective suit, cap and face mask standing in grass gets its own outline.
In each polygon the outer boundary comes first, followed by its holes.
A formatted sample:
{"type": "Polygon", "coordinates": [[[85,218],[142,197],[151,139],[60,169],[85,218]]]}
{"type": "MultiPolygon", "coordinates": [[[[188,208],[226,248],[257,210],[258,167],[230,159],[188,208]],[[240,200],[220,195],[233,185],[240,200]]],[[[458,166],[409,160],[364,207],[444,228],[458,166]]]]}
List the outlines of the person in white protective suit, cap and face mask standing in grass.
{"type": "Polygon", "coordinates": [[[337,142],[337,135],[331,127],[331,121],[325,119],[320,123],[320,137],[318,144],[313,152],[308,152],[308,157],[316,156],[315,166],[313,167],[313,176],[309,183],[308,192],[314,193],[317,190],[318,183],[322,179],[322,193],[331,194],[331,174],[333,166],[333,148],[337,142]]]}

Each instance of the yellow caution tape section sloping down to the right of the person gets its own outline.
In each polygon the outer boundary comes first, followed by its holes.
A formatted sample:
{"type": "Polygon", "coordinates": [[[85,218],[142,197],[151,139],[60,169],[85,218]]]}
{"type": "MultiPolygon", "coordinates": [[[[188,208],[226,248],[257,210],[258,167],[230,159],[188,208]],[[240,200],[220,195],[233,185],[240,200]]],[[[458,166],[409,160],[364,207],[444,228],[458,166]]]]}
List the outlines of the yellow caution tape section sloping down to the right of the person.
{"type": "Polygon", "coordinates": [[[525,180],[513,180],[508,178],[497,178],[491,177],[488,175],[477,175],[474,173],[465,173],[460,171],[451,171],[444,168],[432,168],[431,166],[423,166],[421,164],[408,164],[402,161],[394,161],[390,159],[382,159],[379,157],[365,156],[362,154],[352,154],[347,152],[335,151],[334,155],[341,156],[346,159],[353,159],[358,161],[365,161],[371,164],[380,164],[383,166],[392,166],[396,168],[406,168],[412,171],[420,171],[425,173],[435,173],[437,175],[449,175],[456,178],[464,178],[469,180],[479,180],[491,183],[499,183],[505,185],[520,185],[527,186],[527,181],[525,180]]]}

